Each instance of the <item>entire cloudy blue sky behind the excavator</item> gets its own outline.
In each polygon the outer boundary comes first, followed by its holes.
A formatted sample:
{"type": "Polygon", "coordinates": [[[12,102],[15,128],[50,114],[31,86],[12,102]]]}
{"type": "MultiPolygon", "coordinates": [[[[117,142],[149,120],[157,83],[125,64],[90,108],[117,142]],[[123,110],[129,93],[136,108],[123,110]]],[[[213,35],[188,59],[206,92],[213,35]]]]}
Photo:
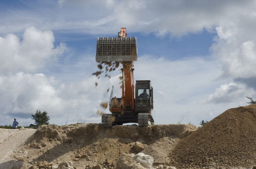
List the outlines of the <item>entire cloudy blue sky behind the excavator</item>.
{"type": "Polygon", "coordinates": [[[0,125],[101,123],[108,88],[97,78],[98,37],[137,38],[134,81],[154,88],[155,124],[210,121],[256,99],[255,0],[0,1],[0,125]],[[98,83],[97,87],[95,82],[98,83]],[[247,96],[247,97],[246,97],[247,96]]]}

